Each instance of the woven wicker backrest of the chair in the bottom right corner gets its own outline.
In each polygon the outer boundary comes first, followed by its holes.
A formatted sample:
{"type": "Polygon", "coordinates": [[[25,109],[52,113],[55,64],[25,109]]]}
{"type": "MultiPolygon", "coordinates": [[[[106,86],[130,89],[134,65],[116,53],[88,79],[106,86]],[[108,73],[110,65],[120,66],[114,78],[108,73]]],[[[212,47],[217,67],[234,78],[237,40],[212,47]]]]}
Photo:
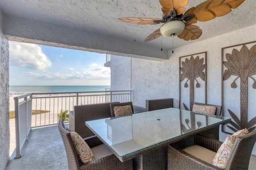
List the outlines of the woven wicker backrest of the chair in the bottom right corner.
{"type": "Polygon", "coordinates": [[[248,169],[252,149],[256,142],[256,128],[242,137],[237,137],[230,153],[226,169],[248,169]]]}

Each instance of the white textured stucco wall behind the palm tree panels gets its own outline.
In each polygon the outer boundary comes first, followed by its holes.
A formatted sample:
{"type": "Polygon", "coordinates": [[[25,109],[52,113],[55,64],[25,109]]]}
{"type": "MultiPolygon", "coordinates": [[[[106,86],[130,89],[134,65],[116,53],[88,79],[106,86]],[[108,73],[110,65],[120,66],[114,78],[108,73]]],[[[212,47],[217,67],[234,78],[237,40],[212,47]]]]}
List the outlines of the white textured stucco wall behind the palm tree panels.
{"type": "MultiPolygon", "coordinates": [[[[132,101],[134,105],[145,107],[146,99],[170,97],[174,98],[174,107],[178,108],[179,57],[204,51],[207,51],[207,103],[221,105],[221,48],[255,40],[256,25],[176,48],[174,49],[174,53],[169,51],[170,59],[168,61],[150,61],[132,58],[131,81],[133,91],[132,101]]],[[[112,67],[115,66],[112,65],[112,67]]],[[[111,81],[111,86],[118,87],[118,85],[122,85],[120,82],[122,82],[121,79],[125,78],[125,74],[120,75],[120,73],[128,71],[126,68],[122,67],[120,69],[123,70],[115,70],[119,72],[120,79],[111,81]]],[[[127,77],[127,79],[129,78],[127,77]]],[[[225,133],[221,133],[220,139],[224,140],[226,135],[225,133]]],[[[256,154],[255,147],[253,154],[256,154]]]]}

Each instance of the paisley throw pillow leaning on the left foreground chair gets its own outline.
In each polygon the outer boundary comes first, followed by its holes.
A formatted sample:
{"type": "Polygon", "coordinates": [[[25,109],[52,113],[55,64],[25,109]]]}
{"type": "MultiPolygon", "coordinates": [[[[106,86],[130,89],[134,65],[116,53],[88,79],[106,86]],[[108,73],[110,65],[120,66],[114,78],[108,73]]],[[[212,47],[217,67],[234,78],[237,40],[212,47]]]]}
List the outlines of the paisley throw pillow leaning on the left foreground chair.
{"type": "Polygon", "coordinates": [[[83,140],[83,138],[73,130],[66,128],[68,132],[71,134],[71,138],[76,145],[76,149],[78,151],[79,160],[81,163],[86,163],[94,160],[94,156],[92,154],[91,148],[88,144],[83,140]]]}

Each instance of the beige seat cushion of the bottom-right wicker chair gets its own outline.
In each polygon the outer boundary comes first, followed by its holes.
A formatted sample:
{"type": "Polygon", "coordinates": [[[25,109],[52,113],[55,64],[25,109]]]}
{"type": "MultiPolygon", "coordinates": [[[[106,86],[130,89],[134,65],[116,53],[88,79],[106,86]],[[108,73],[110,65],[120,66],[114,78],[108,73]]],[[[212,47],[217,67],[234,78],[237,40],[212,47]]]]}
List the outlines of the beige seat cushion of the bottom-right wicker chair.
{"type": "Polygon", "coordinates": [[[188,154],[195,156],[198,159],[208,162],[209,164],[212,164],[212,159],[216,155],[216,152],[213,152],[212,150],[206,149],[199,145],[192,145],[187,148],[184,148],[183,150],[188,154]]]}

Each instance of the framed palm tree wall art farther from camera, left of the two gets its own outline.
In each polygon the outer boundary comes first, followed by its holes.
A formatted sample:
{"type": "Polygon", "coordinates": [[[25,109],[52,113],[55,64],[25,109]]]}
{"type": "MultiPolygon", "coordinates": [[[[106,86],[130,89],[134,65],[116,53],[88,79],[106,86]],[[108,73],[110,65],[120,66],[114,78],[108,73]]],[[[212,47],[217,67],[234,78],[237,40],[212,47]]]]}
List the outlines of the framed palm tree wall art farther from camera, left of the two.
{"type": "Polygon", "coordinates": [[[206,103],[206,52],[180,57],[179,90],[180,109],[192,111],[195,99],[206,103]]]}

